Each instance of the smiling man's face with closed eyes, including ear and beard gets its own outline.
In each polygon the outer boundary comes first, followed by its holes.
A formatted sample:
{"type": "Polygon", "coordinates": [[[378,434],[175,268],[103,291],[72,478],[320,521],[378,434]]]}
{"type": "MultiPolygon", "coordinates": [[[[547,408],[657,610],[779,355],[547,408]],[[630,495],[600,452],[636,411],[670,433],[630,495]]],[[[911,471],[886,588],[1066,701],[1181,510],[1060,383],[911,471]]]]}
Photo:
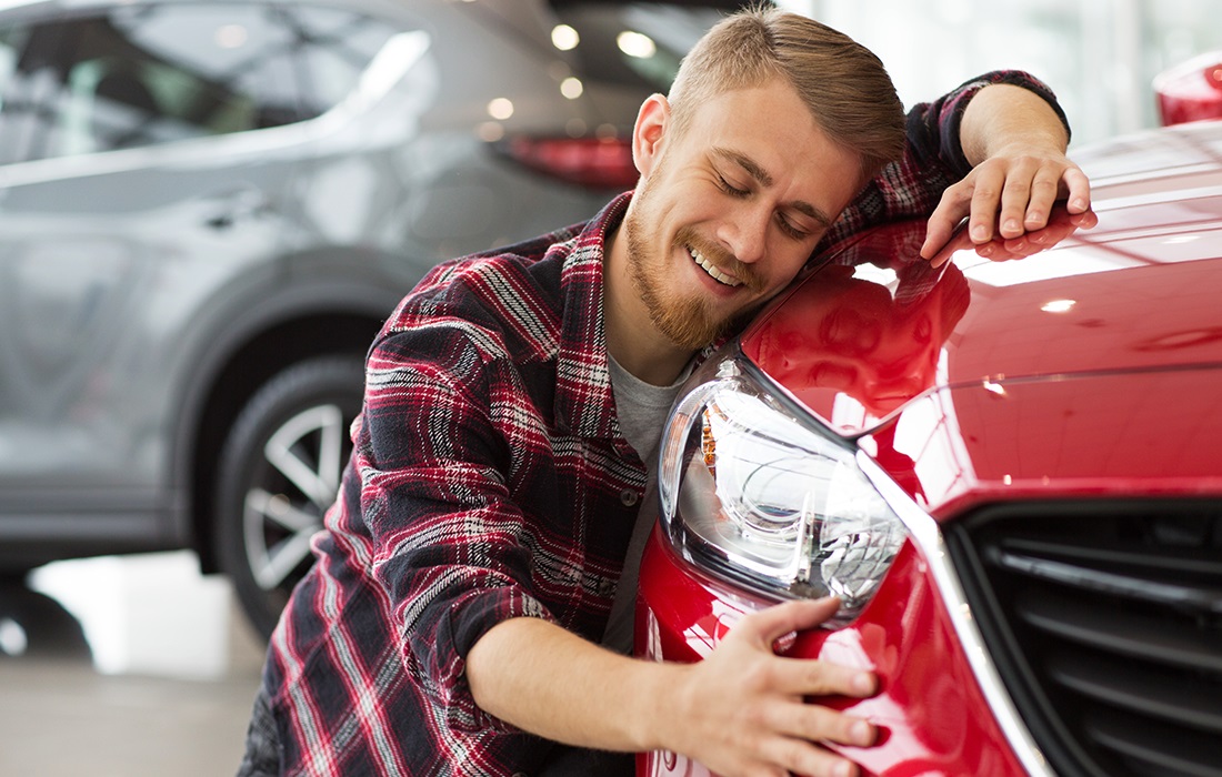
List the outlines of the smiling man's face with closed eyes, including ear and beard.
{"type": "Polygon", "coordinates": [[[661,130],[638,150],[622,227],[627,266],[654,326],[695,349],[793,280],[857,193],[860,162],[780,81],[716,97],[679,133],[655,108],[661,130]]]}

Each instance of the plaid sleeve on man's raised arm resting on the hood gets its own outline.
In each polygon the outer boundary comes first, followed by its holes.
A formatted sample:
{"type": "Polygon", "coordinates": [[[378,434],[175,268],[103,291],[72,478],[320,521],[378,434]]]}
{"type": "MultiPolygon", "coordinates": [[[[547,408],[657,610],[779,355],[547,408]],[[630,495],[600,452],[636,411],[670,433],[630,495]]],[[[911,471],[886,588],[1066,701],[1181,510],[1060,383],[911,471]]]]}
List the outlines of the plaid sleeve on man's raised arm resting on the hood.
{"type": "Polygon", "coordinates": [[[993,71],[962,83],[934,100],[908,111],[904,155],[871,180],[824,237],[815,254],[842,246],[862,230],[899,219],[927,217],[942,192],[958,182],[971,165],[959,143],[963,114],[980,89],[992,84],[1029,89],[1047,100],[1066,132],[1069,122],[1056,95],[1041,81],[1022,71],[993,71]]]}

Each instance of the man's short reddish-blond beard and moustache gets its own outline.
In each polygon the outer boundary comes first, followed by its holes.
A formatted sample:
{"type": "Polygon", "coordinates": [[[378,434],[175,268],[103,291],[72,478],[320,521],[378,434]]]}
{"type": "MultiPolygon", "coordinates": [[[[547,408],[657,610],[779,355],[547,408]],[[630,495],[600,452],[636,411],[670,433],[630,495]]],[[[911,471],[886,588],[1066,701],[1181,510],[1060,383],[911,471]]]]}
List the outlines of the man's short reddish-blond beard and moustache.
{"type": "MultiPolygon", "coordinates": [[[[656,172],[661,172],[661,167],[656,172]]],[[[656,246],[660,243],[657,219],[651,219],[653,209],[656,206],[655,184],[661,178],[661,175],[654,175],[642,183],[633,195],[633,208],[624,216],[621,231],[628,247],[629,274],[632,285],[645,303],[654,326],[675,345],[698,351],[745,324],[763,303],[726,316],[714,310],[708,297],[699,293],[682,294],[666,288],[662,279],[664,258],[656,252],[656,246]]],[[[716,243],[705,241],[694,228],[681,227],[671,248],[687,254],[689,246],[716,266],[741,279],[747,291],[759,292],[763,288],[764,282],[749,265],[738,261],[716,243]]]]}

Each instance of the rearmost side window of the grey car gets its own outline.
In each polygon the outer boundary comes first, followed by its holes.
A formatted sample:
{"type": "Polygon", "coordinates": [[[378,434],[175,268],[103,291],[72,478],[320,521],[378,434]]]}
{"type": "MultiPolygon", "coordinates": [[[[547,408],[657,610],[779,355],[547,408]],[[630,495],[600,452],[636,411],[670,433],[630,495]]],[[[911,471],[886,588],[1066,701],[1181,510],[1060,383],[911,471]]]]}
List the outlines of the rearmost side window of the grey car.
{"type": "Polygon", "coordinates": [[[318,116],[351,94],[374,56],[400,31],[342,9],[288,9],[298,40],[303,111],[318,116]]]}

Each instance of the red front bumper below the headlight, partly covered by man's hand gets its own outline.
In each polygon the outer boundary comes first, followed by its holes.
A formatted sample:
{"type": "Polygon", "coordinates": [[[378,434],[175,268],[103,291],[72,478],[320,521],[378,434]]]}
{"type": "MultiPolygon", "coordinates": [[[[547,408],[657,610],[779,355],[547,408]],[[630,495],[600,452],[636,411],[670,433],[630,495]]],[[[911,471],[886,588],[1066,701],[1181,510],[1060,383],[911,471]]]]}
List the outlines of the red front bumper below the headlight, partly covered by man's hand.
{"type": "MultiPolygon", "coordinates": [[[[697,661],[739,618],[769,602],[693,574],[659,539],[642,564],[638,652],[697,661]]],[[[860,626],[804,632],[782,650],[877,673],[880,693],[871,699],[820,700],[880,727],[877,746],[842,751],[877,775],[1024,775],[980,694],[927,564],[908,545],[888,574],[860,626]]],[[[709,772],[684,756],[651,753],[638,759],[637,773],[709,772]]]]}

